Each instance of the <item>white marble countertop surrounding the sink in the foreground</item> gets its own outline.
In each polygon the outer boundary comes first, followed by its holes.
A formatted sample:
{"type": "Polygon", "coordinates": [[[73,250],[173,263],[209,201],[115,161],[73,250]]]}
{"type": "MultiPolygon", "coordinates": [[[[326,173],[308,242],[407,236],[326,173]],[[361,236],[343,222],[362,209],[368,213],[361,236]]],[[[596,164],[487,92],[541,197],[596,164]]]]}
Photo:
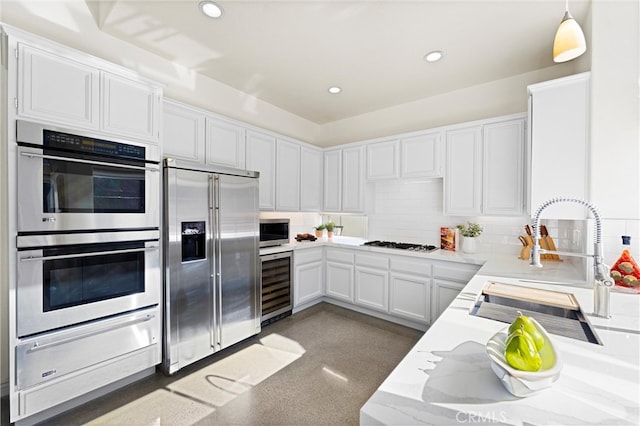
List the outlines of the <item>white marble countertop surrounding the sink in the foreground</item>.
{"type": "Polygon", "coordinates": [[[513,256],[488,259],[362,407],[360,423],[640,424],[640,295],[612,292],[612,317],[595,317],[593,291],[572,281],[572,268],[547,262],[542,272],[513,256]],[[603,345],[552,335],[563,359],[558,381],[526,398],[511,395],[485,352],[507,325],[469,315],[488,280],[573,293],[603,345]]]}

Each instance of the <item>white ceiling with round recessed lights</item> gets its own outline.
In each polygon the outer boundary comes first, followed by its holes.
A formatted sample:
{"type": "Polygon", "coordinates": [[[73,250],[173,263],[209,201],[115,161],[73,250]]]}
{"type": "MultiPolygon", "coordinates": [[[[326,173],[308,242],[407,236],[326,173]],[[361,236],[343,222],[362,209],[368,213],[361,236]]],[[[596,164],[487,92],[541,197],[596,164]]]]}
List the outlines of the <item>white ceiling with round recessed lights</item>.
{"type": "MultiPolygon", "coordinates": [[[[551,66],[565,8],[564,0],[230,0],[213,20],[199,0],[98,1],[103,31],[318,124],[551,66]],[[431,50],[444,58],[425,62],[431,50]],[[343,92],[329,94],[331,85],[343,92]]],[[[590,4],[569,5],[585,30],[590,4]]]]}

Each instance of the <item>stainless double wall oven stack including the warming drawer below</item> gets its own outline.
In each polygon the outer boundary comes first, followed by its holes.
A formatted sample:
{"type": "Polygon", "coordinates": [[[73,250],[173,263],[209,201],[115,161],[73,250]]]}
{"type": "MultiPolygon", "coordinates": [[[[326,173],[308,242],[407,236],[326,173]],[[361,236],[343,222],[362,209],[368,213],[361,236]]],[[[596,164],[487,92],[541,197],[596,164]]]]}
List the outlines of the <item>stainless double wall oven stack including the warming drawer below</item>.
{"type": "Polygon", "coordinates": [[[23,417],[160,362],[161,179],[157,146],[16,125],[23,417]]]}

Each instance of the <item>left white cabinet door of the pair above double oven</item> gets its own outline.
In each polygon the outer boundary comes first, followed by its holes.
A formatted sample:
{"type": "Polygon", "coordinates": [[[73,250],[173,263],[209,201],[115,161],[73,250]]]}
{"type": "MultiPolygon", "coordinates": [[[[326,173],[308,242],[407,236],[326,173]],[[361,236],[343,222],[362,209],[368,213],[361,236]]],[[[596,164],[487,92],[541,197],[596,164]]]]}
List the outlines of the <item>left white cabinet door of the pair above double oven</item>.
{"type": "Polygon", "coordinates": [[[18,115],[89,129],[100,126],[100,71],[18,43],[18,115]]]}

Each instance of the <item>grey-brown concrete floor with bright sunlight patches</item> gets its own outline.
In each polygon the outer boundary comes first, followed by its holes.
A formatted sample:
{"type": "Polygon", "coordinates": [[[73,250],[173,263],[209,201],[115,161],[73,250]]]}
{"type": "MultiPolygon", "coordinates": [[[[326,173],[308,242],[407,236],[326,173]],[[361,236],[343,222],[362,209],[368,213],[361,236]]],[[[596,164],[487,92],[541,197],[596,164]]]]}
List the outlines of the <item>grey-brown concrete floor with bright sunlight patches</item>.
{"type": "Polygon", "coordinates": [[[46,424],[357,425],[360,407],[422,334],[321,303],[46,424]]]}

